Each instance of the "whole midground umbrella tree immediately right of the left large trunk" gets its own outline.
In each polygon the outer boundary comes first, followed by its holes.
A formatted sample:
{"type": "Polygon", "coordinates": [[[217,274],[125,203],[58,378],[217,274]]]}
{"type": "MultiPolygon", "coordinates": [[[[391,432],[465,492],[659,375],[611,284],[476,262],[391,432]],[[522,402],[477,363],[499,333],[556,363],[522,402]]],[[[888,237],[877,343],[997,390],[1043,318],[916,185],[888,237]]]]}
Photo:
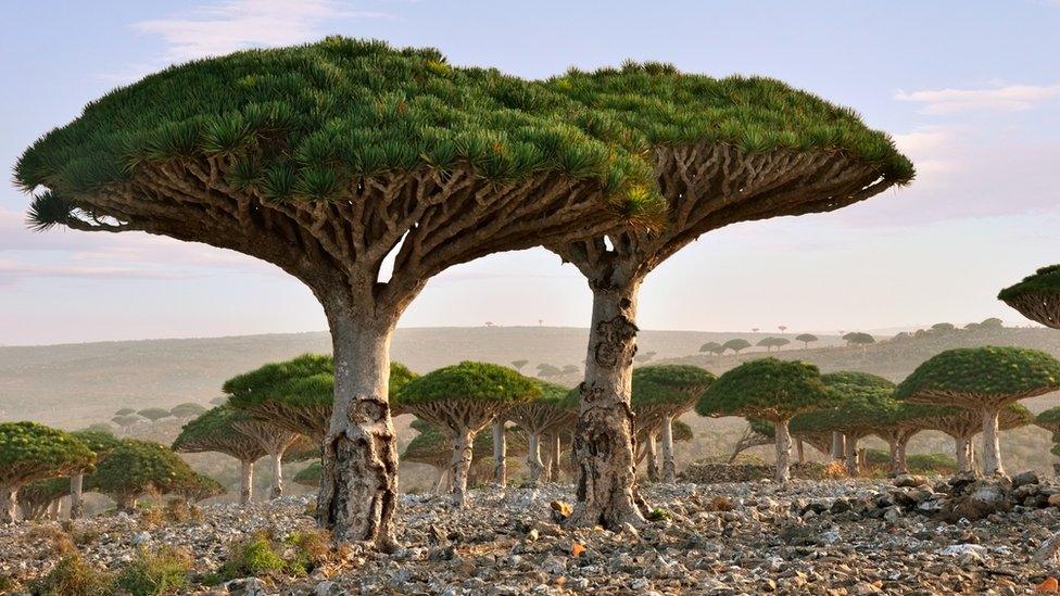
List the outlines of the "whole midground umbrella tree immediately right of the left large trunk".
{"type": "Polygon", "coordinates": [[[512,406],[540,394],[533,380],[510,368],[463,362],[411,381],[398,393],[395,405],[452,441],[453,496],[457,507],[465,507],[475,435],[512,406]]]}

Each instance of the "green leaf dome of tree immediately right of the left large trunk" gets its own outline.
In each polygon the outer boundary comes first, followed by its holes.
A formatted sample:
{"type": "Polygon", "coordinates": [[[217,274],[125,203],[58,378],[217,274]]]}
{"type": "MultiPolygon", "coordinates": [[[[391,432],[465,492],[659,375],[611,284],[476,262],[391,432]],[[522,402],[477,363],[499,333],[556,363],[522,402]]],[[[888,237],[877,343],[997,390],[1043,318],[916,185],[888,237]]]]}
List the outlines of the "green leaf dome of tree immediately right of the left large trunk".
{"type": "Polygon", "coordinates": [[[538,383],[514,369],[465,360],[411,381],[394,402],[399,407],[447,400],[516,403],[538,395],[538,383]]]}

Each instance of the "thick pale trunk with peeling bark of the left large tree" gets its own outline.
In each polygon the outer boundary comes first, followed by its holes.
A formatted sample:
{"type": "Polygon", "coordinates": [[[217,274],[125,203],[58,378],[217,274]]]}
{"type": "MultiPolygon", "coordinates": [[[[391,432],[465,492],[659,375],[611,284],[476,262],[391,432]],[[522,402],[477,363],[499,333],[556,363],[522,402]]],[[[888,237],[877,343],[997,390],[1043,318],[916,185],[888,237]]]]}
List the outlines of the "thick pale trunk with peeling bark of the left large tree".
{"type": "Polygon", "coordinates": [[[331,308],[335,408],[323,445],[319,522],[337,542],[393,550],[398,443],[390,417],[390,320],[362,328],[365,313],[331,308]]]}

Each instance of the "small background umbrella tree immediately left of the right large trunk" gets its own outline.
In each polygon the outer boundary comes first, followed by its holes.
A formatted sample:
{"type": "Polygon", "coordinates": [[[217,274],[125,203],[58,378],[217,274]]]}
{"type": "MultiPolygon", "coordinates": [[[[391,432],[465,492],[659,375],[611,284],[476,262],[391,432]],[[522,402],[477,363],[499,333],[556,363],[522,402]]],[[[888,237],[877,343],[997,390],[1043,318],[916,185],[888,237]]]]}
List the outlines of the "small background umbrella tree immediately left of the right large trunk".
{"type": "Polygon", "coordinates": [[[530,485],[537,486],[545,469],[541,460],[541,440],[544,436],[558,436],[560,429],[573,424],[578,417],[578,397],[571,398],[568,388],[546,381],[533,382],[540,393],[529,401],[513,405],[505,410],[504,417],[519,424],[527,434],[527,474],[530,485]]]}

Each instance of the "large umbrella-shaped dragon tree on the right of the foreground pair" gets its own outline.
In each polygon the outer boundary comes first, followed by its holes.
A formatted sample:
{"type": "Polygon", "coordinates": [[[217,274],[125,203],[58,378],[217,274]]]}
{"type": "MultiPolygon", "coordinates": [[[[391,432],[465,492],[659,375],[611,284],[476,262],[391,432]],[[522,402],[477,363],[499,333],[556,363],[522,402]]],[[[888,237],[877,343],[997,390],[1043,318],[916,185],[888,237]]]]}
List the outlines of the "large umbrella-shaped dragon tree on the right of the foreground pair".
{"type": "Polygon", "coordinates": [[[593,106],[572,117],[573,125],[651,158],[653,186],[668,206],[660,230],[631,227],[544,242],[578,267],[593,293],[570,521],[640,523],[630,382],[645,277],[702,233],[837,210],[909,182],[913,168],[853,111],[773,79],[716,79],[628,63],[568,72],[547,85],[593,106]]]}

